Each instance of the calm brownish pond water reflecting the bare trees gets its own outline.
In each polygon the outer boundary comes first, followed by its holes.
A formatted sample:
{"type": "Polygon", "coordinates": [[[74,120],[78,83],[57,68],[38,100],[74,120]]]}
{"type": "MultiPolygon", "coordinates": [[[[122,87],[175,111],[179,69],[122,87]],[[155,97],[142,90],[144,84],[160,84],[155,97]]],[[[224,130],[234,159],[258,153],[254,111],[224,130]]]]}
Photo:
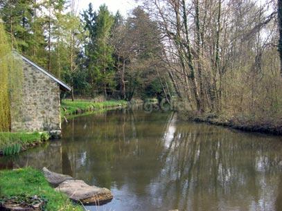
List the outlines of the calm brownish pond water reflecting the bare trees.
{"type": "Polygon", "coordinates": [[[46,166],[112,190],[112,202],[91,211],[282,210],[281,137],[126,110],[62,129],[62,140],[0,165],[46,166]]]}

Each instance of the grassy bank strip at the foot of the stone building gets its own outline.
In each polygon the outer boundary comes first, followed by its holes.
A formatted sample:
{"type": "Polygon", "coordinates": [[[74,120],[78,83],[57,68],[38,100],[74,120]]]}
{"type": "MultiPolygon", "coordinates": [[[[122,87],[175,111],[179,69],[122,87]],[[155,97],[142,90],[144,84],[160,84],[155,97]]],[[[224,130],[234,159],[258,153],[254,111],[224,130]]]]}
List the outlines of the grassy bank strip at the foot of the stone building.
{"type": "Polygon", "coordinates": [[[0,156],[18,154],[30,147],[35,147],[40,143],[49,140],[50,135],[47,132],[34,133],[0,133],[0,156]]]}

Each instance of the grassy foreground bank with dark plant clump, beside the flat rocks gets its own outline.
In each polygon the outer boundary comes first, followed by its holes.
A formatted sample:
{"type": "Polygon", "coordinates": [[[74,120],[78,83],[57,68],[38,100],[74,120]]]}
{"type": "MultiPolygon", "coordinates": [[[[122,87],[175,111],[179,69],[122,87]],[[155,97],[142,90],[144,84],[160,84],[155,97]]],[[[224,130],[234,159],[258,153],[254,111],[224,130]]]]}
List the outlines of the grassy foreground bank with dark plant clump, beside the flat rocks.
{"type": "Polygon", "coordinates": [[[44,178],[41,171],[27,167],[24,169],[0,171],[0,210],[5,203],[24,205],[25,208],[42,203],[40,210],[82,211],[80,205],[73,204],[67,195],[56,192],[44,178]]]}

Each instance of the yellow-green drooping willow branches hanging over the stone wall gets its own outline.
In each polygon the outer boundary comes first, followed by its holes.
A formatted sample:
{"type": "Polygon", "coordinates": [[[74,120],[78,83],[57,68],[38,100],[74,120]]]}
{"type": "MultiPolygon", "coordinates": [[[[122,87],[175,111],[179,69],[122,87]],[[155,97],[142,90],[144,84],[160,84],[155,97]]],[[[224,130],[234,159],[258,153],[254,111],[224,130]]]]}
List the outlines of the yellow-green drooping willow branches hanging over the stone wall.
{"type": "Polygon", "coordinates": [[[12,53],[0,19],[0,131],[9,131],[11,117],[19,113],[22,74],[21,59],[12,53]]]}

